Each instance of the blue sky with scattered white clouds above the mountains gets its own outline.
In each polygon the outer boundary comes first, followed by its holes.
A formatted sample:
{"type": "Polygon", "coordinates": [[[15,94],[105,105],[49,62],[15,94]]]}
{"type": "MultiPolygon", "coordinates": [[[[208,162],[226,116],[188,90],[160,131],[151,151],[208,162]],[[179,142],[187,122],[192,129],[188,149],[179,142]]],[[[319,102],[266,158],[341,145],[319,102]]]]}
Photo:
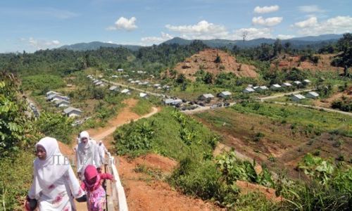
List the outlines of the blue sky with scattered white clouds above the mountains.
{"type": "Polygon", "coordinates": [[[0,52],[103,41],[289,39],[352,32],[351,0],[0,1],[0,52]]]}

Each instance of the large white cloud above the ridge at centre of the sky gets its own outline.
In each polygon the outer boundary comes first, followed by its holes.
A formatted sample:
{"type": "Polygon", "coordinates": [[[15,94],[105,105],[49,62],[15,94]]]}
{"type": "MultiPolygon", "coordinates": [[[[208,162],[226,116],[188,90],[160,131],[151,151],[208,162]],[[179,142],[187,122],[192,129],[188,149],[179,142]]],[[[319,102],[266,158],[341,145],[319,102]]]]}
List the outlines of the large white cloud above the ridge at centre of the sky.
{"type": "Polygon", "coordinates": [[[179,32],[186,39],[219,39],[227,37],[229,32],[222,25],[201,20],[196,25],[165,25],[172,32],[179,32]]]}

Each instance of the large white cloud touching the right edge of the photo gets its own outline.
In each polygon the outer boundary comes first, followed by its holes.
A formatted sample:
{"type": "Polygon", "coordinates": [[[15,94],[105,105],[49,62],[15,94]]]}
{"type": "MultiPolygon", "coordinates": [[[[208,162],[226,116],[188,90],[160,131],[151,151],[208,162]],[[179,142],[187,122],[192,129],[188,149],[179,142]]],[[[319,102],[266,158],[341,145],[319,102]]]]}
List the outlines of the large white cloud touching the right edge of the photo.
{"type": "Polygon", "coordinates": [[[318,35],[318,34],[343,34],[352,32],[352,17],[337,16],[325,21],[318,21],[318,18],[312,17],[308,20],[295,23],[294,27],[298,28],[298,34],[318,35]]]}

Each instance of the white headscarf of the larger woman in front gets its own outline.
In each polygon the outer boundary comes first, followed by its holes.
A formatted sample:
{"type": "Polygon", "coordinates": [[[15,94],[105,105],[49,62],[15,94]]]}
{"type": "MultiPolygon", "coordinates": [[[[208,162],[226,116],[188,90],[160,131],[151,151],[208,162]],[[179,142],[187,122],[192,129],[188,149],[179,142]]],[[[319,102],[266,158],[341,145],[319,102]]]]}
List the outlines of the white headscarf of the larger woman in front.
{"type": "Polygon", "coordinates": [[[48,188],[60,179],[70,167],[70,162],[60,152],[58,141],[51,137],[45,137],[35,145],[42,146],[46,151],[45,160],[36,158],[34,160],[34,174],[37,177],[36,190],[48,188]]]}

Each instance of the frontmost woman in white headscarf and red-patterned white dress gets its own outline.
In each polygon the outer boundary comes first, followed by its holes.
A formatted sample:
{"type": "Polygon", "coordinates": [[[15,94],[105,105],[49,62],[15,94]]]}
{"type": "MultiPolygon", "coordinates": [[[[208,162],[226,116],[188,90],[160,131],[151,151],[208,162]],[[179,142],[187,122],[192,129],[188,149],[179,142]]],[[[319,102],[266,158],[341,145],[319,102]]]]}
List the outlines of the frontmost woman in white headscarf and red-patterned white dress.
{"type": "Polygon", "coordinates": [[[80,198],[84,191],[68,158],[61,154],[58,142],[45,137],[36,144],[36,149],[34,181],[25,203],[26,210],[33,199],[37,200],[39,210],[75,210],[73,198],[80,198]]]}

